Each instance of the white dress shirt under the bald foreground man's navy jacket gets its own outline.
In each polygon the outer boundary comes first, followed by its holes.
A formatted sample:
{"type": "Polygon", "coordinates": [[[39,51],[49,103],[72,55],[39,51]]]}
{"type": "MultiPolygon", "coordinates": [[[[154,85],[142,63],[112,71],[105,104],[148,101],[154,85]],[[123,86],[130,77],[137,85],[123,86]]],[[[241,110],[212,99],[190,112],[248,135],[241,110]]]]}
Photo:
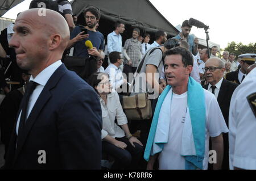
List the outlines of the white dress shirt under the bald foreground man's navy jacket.
{"type": "MultiPolygon", "coordinates": [[[[35,90],[32,92],[30,99],[28,100],[28,106],[27,106],[27,115],[26,119],[30,115],[30,112],[32,108],[34,107],[36,100],[38,100],[39,95],[41,94],[42,90],[44,89],[44,86],[46,86],[46,83],[48,82],[49,78],[52,76],[52,74],[59,68],[59,66],[62,64],[60,60],[54,62],[53,64],[49,65],[47,68],[42,70],[38,75],[36,75],[35,78],[30,77],[30,81],[34,81],[38,83],[38,86],[36,86],[35,90]]],[[[19,121],[22,111],[19,113],[18,121],[16,124],[16,133],[18,135],[19,130],[19,121]]]]}

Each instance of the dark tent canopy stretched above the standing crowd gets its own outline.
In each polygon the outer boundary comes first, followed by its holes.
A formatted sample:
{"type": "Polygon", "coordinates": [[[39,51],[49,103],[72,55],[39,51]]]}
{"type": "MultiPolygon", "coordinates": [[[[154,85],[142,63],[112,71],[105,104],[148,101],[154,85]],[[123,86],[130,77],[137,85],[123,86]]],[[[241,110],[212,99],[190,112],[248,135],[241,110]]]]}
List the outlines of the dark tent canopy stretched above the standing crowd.
{"type": "Polygon", "coordinates": [[[133,28],[141,30],[141,35],[150,33],[151,43],[158,30],[167,32],[168,37],[176,36],[179,31],[148,0],[74,0],[71,2],[73,14],[78,16],[77,24],[85,24],[84,9],[89,6],[100,10],[100,26],[98,30],[106,37],[114,30],[114,22],[123,20],[125,32],[122,34],[123,43],[131,37],[133,28]]]}

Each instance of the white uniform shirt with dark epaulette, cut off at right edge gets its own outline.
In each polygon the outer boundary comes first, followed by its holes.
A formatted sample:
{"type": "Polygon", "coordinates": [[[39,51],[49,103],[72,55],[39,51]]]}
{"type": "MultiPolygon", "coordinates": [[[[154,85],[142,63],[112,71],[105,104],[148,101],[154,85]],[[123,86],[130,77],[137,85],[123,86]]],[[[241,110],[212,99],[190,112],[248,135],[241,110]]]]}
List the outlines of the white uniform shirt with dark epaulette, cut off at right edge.
{"type": "Polygon", "coordinates": [[[256,117],[246,99],[256,92],[256,68],[233,92],[229,109],[230,169],[256,169],[256,117]]]}

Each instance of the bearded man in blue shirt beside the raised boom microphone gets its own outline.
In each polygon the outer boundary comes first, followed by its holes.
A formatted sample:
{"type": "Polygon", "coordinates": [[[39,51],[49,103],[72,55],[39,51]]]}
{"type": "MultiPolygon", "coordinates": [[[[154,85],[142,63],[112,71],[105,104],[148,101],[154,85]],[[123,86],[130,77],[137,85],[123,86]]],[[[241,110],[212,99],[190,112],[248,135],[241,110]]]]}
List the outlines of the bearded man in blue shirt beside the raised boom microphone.
{"type": "Polygon", "coordinates": [[[178,40],[186,40],[189,44],[189,51],[196,56],[198,50],[198,43],[199,40],[197,38],[195,38],[192,35],[189,35],[190,31],[191,31],[192,26],[190,24],[188,24],[188,20],[184,20],[184,22],[182,23],[181,26],[181,32],[175,36],[172,37],[173,39],[178,39],[178,40]]]}

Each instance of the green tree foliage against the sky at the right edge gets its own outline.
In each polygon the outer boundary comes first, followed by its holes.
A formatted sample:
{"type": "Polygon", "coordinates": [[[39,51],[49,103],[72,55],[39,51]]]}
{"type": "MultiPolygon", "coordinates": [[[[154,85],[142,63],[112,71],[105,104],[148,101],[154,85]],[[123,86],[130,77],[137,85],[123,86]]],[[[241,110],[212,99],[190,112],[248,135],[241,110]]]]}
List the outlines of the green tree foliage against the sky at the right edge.
{"type": "Polygon", "coordinates": [[[250,43],[248,45],[243,45],[241,42],[236,44],[234,41],[228,43],[228,47],[224,50],[229,51],[229,53],[235,53],[236,56],[245,53],[256,53],[256,43],[250,43]]]}

